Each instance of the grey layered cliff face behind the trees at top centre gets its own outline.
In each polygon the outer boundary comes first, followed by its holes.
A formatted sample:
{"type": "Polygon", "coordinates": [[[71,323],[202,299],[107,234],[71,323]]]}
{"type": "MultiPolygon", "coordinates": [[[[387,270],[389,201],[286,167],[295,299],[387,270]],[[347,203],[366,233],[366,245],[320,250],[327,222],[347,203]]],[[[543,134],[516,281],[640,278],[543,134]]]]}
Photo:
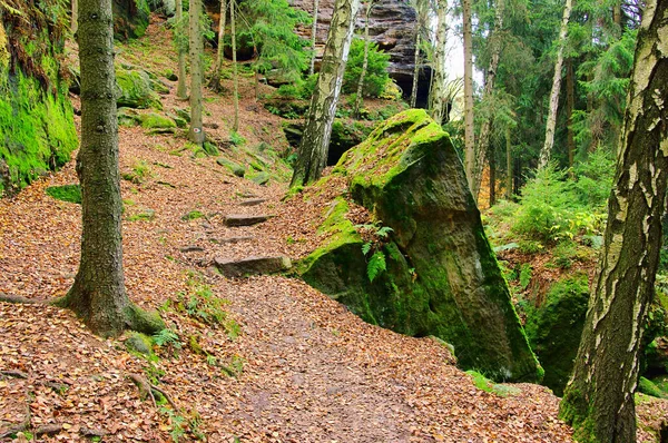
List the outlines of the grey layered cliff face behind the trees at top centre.
{"type": "MultiPolygon", "coordinates": [[[[313,16],[313,0],[293,0],[292,4],[313,16]]],[[[334,0],[320,0],[316,50],[322,55],[334,0]]],[[[381,0],[372,9],[370,36],[379,43],[379,48],[390,55],[390,77],[392,77],[405,93],[411,93],[413,79],[413,61],[415,51],[415,10],[406,1],[381,0]]],[[[364,29],[364,7],[360,8],[355,24],[357,33],[364,29]]],[[[301,30],[305,38],[311,38],[311,26],[301,30]]]]}

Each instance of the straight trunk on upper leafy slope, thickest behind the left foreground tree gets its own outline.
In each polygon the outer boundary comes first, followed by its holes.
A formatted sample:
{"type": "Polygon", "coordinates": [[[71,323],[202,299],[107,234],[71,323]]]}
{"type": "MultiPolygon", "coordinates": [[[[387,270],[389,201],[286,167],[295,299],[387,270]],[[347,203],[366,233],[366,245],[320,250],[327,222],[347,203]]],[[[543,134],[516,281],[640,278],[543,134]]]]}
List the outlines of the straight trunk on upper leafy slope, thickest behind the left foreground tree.
{"type": "Polygon", "coordinates": [[[194,144],[204,144],[202,125],[202,55],[204,42],[199,26],[202,0],[190,0],[190,130],[188,138],[194,144]]]}

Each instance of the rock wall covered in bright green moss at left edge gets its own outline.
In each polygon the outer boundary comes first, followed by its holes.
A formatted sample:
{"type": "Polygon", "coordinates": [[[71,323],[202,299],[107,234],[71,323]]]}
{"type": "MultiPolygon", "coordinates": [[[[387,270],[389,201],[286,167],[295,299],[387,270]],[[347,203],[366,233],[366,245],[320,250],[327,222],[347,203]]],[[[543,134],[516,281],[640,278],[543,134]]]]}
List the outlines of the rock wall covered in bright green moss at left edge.
{"type": "Polygon", "coordinates": [[[0,14],[0,196],[63,165],[78,145],[60,65],[65,3],[17,4],[0,14]]]}

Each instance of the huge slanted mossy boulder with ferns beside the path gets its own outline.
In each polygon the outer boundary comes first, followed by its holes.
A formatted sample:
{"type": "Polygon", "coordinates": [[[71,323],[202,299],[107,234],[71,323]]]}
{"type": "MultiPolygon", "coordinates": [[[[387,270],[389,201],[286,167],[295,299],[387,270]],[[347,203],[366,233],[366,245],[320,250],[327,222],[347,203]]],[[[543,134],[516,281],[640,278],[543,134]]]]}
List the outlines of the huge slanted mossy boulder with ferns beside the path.
{"type": "Polygon", "coordinates": [[[330,180],[344,180],[347,190],[320,226],[325,240],[298,264],[308,284],[370,323],[451,343],[466,368],[498,381],[541,378],[462,164],[423,110],[380,125],[315,191],[330,180]],[[353,204],[392,229],[366,256],[347,218],[353,204]]]}

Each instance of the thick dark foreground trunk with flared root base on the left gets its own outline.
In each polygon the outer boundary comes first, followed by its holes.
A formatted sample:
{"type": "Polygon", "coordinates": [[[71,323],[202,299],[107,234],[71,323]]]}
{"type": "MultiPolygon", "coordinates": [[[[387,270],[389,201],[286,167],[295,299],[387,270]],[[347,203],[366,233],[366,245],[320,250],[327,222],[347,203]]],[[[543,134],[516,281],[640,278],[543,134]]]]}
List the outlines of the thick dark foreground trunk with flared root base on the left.
{"type": "Polygon", "coordinates": [[[145,314],[128,299],[122,273],[111,0],[81,0],[79,12],[81,259],[75,284],[57,304],[75,311],[105,337],[126,328],[155,332],[161,328],[159,317],[149,327],[145,314]]]}

